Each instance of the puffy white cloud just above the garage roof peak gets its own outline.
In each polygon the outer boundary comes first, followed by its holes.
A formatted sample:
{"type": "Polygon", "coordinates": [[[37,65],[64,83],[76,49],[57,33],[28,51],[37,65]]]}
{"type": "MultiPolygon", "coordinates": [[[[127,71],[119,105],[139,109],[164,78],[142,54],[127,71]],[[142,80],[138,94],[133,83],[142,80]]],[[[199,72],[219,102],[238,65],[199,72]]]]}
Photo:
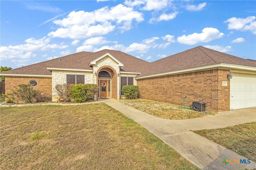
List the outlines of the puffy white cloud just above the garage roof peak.
{"type": "Polygon", "coordinates": [[[177,41],[181,44],[194,45],[196,43],[207,43],[214,39],[219,39],[224,35],[218,29],[208,27],[202,30],[202,33],[193,33],[190,35],[182,35],[177,38],[177,41]]]}

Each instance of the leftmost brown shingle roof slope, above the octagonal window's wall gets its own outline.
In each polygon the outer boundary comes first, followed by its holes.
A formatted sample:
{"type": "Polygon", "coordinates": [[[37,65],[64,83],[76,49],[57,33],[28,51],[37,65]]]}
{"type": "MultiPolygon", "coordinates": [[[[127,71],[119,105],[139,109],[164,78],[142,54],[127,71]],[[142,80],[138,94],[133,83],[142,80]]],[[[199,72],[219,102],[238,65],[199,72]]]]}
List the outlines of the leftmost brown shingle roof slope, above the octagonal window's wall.
{"type": "Polygon", "coordinates": [[[48,60],[48,61],[43,61],[40,63],[36,64],[31,64],[28,66],[20,67],[20,68],[15,68],[12,70],[8,70],[5,72],[2,72],[4,74],[38,74],[38,75],[52,75],[52,72],[50,70],[47,70],[47,67],[51,65],[56,65],[59,63],[65,63],[67,61],[73,60],[80,58],[82,56],[86,56],[90,54],[90,52],[80,52],[80,53],[75,53],[72,55],[67,55],[64,57],[59,57],[56,59],[48,60]]]}

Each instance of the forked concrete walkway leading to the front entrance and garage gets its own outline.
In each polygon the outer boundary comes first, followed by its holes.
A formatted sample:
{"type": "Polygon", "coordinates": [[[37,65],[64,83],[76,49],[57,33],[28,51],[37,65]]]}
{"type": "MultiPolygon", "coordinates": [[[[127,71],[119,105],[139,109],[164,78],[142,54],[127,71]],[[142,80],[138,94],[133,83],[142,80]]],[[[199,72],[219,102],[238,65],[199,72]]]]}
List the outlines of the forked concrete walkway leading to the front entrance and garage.
{"type": "Polygon", "coordinates": [[[121,104],[117,100],[104,100],[106,104],[133,119],[148,131],[162,139],[166,144],[179,152],[184,158],[201,169],[207,170],[240,170],[256,168],[256,163],[250,164],[223,164],[225,158],[246,159],[244,156],[226,149],[190,130],[215,129],[241,123],[256,121],[256,108],[222,112],[218,115],[189,119],[168,120],[154,117],[132,107],[121,104]],[[243,114],[241,114],[243,113],[243,114]]]}

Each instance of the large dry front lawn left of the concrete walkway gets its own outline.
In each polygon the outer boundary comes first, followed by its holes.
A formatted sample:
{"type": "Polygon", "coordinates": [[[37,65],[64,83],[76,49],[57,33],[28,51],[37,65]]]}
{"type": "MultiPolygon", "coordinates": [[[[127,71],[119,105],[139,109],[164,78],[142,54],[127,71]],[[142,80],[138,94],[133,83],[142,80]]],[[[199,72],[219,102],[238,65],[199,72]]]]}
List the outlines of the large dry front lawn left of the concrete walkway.
{"type": "Polygon", "coordinates": [[[103,103],[0,109],[0,169],[198,169],[103,103]]]}

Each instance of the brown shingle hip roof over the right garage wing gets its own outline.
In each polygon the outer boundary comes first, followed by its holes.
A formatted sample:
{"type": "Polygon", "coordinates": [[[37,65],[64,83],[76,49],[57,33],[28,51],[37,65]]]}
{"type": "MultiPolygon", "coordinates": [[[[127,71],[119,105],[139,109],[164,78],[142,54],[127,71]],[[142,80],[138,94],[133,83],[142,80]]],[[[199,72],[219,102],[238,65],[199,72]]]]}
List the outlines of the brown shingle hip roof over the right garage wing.
{"type": "Polygon", "coordinates": [[[137,77],[218,63],[256,67],[255,60],[242,59],[233,55],[198,46],[148,64],[142,74],[137,77]]]}

